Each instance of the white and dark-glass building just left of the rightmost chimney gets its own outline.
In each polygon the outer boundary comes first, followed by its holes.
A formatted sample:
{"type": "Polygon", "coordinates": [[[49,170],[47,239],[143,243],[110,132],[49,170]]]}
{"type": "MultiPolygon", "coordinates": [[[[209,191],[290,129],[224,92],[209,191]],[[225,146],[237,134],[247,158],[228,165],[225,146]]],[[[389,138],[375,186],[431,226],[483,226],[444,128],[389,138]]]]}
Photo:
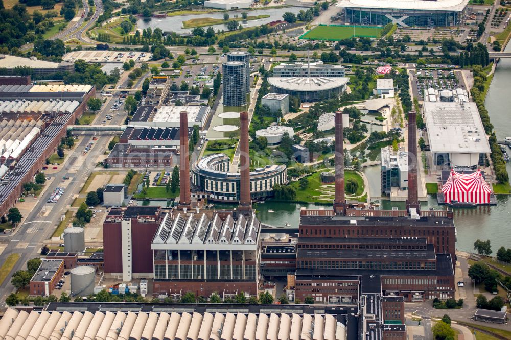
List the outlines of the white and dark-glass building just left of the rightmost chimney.
{"type": "Polygon", "coordinates": [[[408,188],[408,153],[399,151],[394,154],[392,147],[381,149],[381,189],[390,195],[392,188],[408,188]]]}

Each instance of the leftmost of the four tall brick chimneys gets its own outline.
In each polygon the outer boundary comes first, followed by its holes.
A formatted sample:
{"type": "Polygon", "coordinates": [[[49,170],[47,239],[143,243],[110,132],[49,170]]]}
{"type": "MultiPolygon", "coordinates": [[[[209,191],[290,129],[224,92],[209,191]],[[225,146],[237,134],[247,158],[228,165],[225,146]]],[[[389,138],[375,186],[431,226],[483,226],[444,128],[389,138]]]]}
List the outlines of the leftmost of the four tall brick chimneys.
{"type": "Polygon", "coordinates": [[[190,160],[188,159],[188,113],[179,112],[179,206],[190,207],[190,160]]]}

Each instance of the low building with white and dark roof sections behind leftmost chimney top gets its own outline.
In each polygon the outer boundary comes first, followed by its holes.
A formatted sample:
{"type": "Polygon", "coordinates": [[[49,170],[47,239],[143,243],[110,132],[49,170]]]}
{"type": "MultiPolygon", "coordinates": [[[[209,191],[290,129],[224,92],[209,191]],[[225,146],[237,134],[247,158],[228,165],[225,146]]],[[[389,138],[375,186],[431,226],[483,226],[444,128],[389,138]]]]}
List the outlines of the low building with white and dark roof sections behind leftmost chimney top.
{"type": "Polygon", "coordinates": [[[178,128],[179,112],[186,111],[188,116],[188,126],[198,125],[202,128],[210,114],[209,106],[154,106],[139,107],[133,117],[128,122],[129,126],[134,127],[155,127],[155,128],[178,128]]]}

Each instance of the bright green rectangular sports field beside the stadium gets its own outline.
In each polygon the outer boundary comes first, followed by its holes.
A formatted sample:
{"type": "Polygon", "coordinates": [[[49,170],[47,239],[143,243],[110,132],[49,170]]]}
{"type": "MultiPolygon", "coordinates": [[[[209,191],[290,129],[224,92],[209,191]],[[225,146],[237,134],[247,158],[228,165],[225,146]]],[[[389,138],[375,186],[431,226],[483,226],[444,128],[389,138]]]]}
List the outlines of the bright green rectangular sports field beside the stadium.
{"type": "Polygon", "coordinates": [[[341,40],[351,37],[376,38],[382,29],[367,26],[319,25],[306,32],[299,39],[307,40],[341,40]]]}

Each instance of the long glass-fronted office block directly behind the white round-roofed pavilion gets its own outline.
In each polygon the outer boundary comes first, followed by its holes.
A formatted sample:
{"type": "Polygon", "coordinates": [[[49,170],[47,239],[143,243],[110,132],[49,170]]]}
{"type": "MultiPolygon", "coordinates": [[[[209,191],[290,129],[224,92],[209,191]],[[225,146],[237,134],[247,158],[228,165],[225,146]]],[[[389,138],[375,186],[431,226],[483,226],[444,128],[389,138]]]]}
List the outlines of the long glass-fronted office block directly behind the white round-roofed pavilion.
{"type": "Polygon", "coordinates": [[[342,65],[315,63],[281,63],[272,69],[273,77],[344,77],[346,69],[342,65]]]}

